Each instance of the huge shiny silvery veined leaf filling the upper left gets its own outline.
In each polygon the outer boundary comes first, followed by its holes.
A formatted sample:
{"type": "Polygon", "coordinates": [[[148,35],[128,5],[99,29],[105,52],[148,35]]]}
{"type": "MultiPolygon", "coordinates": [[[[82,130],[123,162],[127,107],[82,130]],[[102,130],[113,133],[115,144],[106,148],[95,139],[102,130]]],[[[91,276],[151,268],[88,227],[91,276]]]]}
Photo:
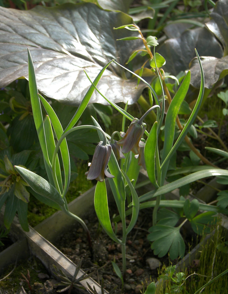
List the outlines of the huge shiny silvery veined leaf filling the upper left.
{"type": "MultiPolygon", "coordinates": [[[[91,3],[65,4],[28,11],[0,7],[0,87],[19,77],[28,79],[27,47],[36,71],[37,87],[60,102],[79,105],[93,80],[113,58],[125,64],[140,40],[116,41],[137,36],[129,30],[113,30],[132,23],[123,12],[105,11],[91,3]]],[[[113,64],[99,82],[100,91],[114,102],[134,103],[145,87],[122,77],[113,64]]],[[[95,91],[90,101],[107,104],[95,91]]]]}

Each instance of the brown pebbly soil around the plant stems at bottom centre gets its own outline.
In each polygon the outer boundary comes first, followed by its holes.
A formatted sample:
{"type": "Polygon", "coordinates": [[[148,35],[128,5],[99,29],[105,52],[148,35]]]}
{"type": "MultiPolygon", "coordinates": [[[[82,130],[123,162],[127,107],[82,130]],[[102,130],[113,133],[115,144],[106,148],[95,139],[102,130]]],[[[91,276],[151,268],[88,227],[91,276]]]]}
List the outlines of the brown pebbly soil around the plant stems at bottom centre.
{"type": "MultiPolygon", "coordinates": [[[[113,242],[98,224],[94,213],[88,214],[84,219],[91,232],[92,252],[88,246],[88,241],[83,229],[77,224],[68,232],[60,235],[54,244],[75,264],[78,264],[82,258],[82,270],[92,272],[92,279],[99,284],[104,281],[104,289],[108,292],[116,288],[112,293],[133,294],[140,293],[144,285],[156,281],[159,268],[150,269],[147,258],[157,258],[150,249],[150,242],[147,240],[149,227],[152,226],[152,209],[140,211],[138,221],[127,238],[127,273],[124,289],[121,289],[121,280],[118,278],[112,267],[112,261],[122,269],[121,246],[113,242]]],[[[126,222],[129,222],[130,218],[126,222]]],[[[114,229],[114,224],[113,224],[114,229]]],[[[121,223],[117,224],[118,238],[121,238],[121,223]]],[[[189,244],[192,244],[194,232],[186,230],[182,232],[185,235],[186,250],[189,250],[189,244]]],[[[195,235],[194,235],[195,237],[195,235]]],[[[186,253],[187,253],[186,252],[186,253]]],[[[158,258],[162,265],[175,264],[177,260],[171,261],[168,255],[158,258]]]]}

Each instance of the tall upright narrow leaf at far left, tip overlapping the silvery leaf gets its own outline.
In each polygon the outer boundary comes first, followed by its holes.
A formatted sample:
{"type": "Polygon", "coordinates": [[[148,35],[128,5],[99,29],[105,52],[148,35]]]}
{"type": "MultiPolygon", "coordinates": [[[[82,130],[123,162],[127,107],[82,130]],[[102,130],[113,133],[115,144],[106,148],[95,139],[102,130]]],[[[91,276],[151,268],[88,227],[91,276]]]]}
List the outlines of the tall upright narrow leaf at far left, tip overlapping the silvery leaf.
{"type": "Polygon", "coordinates": [[[38,90],[36,85],[36,75],[33,65],[32,56],[28,49],[28,65],[29,65],[29,91],[31,97],[31,104],[33,110],[33,118],[36,126],[36,131],[38,134],[38,138],[40,141],[40,147],[43,152],[44,159],[50,164],[48,154],[47,154],[47,145],[46,145],[46,138],[44,133],[44,126],[43,126],[43,116],[41,111],[40,99],[38,97],[38,90]]]}

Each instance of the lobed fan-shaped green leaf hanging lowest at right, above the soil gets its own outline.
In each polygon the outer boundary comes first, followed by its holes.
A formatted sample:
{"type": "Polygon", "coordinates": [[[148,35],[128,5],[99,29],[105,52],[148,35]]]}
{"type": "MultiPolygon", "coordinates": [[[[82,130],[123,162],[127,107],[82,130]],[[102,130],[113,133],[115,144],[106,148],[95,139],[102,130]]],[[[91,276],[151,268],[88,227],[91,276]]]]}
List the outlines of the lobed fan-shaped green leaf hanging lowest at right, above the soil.
{"type": "Polygon", "coordinates": [[[151,249],[158,257],[163,257],[169,252],[171,259],[183,257],[185,254],[185,242],[180,234],[179,227],[169,227],[156,225],[150,227],[150,234],[147,236],[149,241],[154,241],[151,249]]]}

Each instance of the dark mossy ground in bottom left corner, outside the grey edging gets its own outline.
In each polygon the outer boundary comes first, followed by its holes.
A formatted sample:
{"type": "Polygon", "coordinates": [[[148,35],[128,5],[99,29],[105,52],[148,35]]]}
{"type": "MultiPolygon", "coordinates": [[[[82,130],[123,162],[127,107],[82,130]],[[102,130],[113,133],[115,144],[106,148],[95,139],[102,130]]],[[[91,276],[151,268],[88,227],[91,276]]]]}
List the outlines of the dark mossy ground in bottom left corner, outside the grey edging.
{"type": "MultiPolygon", "coordinates": [[[[9,265],[8,268],[4,271],[4,274],[0,276],[0,280],[4,278],[7,274],[9,274],[12,269],[14,268],[14,264],[9,265]]],[[[27,271],[29,270],[30,275],[30,285],[32,286],[35,282],[43,282],[38,277],[38,273],[44,273],[48,275],[47,270],[42,265],[39,259],[35,257],[30,257],[27,260],[22,260],[17,262],[16,268],[13,270],[13,272],[0,281],[0,289],[3,290],[5,293],[16,293],[18,289],[20,289],[20,283],[22,282],[22,274],[27,277],[27,271]],[[21,274],[22,273],[22,274],[21,274]]],[[[23,282],[23,287],[27,291],[29,291],[28,284],[26,282],[23,282]]],[[[3,293],[4,293],[3,292],[3,293]]]]}

